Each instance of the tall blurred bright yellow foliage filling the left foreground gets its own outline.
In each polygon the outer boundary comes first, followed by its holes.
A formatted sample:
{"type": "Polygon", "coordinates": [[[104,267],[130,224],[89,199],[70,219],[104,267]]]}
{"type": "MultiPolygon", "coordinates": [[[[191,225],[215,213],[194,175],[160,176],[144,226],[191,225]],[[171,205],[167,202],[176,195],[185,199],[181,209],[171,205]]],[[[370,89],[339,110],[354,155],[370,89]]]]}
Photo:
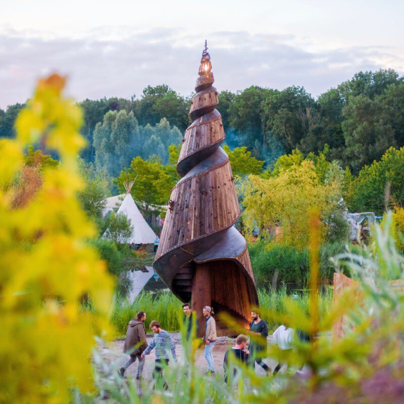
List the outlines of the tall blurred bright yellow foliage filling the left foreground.
{"type": "Polygon", "coordinates": [[[76,199],[81,111],[64,85],[58,75],[40,80],[16,139],[0,141],[0,402],[69,402],[71,387],[91,390],[94,334],[110,332],[113,282],[85,242],[95,229],[76,199]],[[23,151],[38,141],[60,164],[44,168],[34,197],[13,209],[23,151]],[[81,309],[86,296],[91,312],[81,309]]]}

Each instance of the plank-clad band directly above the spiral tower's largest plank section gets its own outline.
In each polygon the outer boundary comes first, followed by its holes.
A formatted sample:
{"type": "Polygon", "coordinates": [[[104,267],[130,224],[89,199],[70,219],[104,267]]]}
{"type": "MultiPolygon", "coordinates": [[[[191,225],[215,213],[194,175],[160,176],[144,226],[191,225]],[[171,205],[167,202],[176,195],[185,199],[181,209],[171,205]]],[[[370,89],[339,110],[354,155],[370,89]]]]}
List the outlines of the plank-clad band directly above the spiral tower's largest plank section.
{"type": "Polygon", "coordinates": [[[184,143],[181,147],[178,162],[197,150],[223,141],[224,138],[225,134],[221,117],[189,126],[185,131],[184,143]]]}

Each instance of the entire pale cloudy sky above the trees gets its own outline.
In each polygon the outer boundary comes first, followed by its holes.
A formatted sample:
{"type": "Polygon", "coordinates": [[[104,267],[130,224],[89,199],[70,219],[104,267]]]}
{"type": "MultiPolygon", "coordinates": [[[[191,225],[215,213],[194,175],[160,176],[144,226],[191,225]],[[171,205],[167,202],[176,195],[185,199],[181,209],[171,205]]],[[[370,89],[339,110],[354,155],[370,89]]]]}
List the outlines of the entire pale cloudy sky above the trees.
{"type": "Polygon", "coordinates": [[[358,71],[404,74],[402,0],[13,0],[0,12],[0,108],[39,77],[77,100],[193,91],[205,39],[219,91],[304,86],[313,96],[358,71]]]}

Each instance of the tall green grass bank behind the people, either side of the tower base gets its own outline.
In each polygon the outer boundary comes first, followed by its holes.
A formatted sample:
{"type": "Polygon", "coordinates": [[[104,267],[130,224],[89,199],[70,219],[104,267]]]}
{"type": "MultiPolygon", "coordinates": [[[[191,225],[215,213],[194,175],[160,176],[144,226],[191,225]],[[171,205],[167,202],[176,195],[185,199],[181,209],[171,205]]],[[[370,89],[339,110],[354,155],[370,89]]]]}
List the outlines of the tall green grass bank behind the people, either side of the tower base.
{"type": "MultiPolygon", "coordinates": [[[[277,291],[260,291],[260,307],[263,311],[274,311],[275,313],[284,313],[284,301],[286,298],[294,299],[298,306],[303,310],[308,309],[308,293],[302,291],[294,295],[287,295],[286,289],[281,288],[277,291]]],[[[327,291],[320,296],[320,316],[325,315],[331,309],[332,290],[327,291]]],[[[147,315],[146,323],[151,320],[160,321],[162,327],[167,331],[179,331],[182,321],[182,303],[171,292],[162,292],[155,295],[141,293],[130,304],[127,299],[118,299],[112,322],[119,334],[125,334],[126,327],[130,319],[139,311],[144,311],[147,315]]],[[[267,321],[268,328],[274,331],[277,324],[273,321],[267,321]]]]}

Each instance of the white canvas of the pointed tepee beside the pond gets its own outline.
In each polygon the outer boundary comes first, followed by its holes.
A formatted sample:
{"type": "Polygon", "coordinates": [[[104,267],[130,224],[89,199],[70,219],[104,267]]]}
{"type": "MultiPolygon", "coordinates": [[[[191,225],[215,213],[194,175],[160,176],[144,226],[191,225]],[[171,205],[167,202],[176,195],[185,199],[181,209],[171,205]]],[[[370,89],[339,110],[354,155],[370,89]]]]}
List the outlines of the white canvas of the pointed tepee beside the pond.
{"type": "MultiPolygon", "coordinates": [[[[117,214],[123,213],[132,223],[134,227],[132,237],[130,237],[128,243],[135,244],[151,244],[154,243],[156,238],[156,233],[151,229],[151,227],[144,220],[139,209],[135,204],[130,193],[127,193],[122,205],[118,209],[117,214]]],[[[105,233],[104,233],[105,235],[105,233]]]]}

